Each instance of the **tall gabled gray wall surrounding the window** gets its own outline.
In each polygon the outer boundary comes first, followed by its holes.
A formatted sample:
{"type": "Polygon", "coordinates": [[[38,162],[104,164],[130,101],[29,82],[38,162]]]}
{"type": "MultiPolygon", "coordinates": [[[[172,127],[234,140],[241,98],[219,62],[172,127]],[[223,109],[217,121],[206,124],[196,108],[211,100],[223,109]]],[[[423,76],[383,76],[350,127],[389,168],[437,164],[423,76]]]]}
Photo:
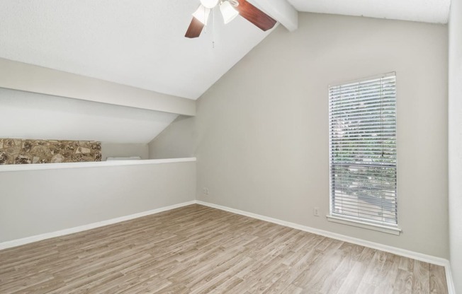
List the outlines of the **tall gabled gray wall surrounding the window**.
{"type": "Polygon", "coordinates": [[[185,149],[198,158],[199,200],[449,258],[447,27],[299,16],[298,30],[276,28],[198,100],[188,125],[172,124],[152,144],[171,148],[193,132],[185,149]],[[397,74],[400,236],[324,217],[328,86],[390,71],[397,74]],[[312,215],[315,206],[322,217],[312,215]]]}

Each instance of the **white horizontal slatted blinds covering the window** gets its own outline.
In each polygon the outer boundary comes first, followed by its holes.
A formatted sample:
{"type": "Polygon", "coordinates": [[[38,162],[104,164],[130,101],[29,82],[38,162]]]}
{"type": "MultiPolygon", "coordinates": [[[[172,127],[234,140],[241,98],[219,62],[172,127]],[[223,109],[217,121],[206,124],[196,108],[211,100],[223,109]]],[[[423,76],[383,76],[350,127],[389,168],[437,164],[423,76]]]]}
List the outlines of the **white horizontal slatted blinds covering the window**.
{"type": "Polygon", "coordinates": [[[329,87],[330,213],[398,224],[395,73],[329,87]]]}

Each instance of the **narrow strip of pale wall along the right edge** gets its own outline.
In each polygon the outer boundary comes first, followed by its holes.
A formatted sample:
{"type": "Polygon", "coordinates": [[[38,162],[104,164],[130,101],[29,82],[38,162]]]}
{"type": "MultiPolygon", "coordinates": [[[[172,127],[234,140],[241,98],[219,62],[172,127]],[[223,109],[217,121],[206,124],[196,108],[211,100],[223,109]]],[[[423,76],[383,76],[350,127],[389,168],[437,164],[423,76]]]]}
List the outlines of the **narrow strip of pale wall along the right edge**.
{"type": "Polygon", "coordinates": [[[462,293],[462,1],[449,18],[449,240],[457,293],[462,293]]]}

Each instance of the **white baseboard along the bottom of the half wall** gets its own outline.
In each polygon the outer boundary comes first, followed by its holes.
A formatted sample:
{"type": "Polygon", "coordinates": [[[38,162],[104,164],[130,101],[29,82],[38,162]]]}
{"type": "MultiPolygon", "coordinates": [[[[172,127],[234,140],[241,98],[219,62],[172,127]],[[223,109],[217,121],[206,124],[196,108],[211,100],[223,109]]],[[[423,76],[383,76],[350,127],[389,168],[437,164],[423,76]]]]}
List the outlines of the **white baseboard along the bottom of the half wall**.
{"type": "Polygon", "coordinates": [[[37,241],[40,241],[40,240],[50,239],[52,237],[60,237],[60,236],[63,236],[63,235],[69,235],[69,234],[72,234],[72,233],[78,233],[78,232],[81,232],[81,231],[84,231],[84,230],[91,230],[91,229],[94,229],[94,228],[103,227],[104,225],[112,225],[113,223],[120,223],[120,222],[125,221],[125,220],[133,220],[133,218],[141,218],[142,216],[149,216],[151,214],[159,213],[159,212],[162,212],[162,211],[169,211],[169,210],[174,209],[174,208],[188,206],[188,205],[191,205],[191,204],[196,204],[196,200],[183,202],[183,203],[180,203],[180,204],[174,204],[174,205],[171,205],[171,206],[165,206],[165,207],[161,207],[161,208],[156,208],[156,209],[152,209],[150,211],[143,211],[143,212],[140,212],[140,213],[134,213],[134,214],[130,214],[130,216],[120,216],[120,218],[111,218],[110,220],[103,220],[103,221],[99,221],[97,223],[89,223],[88,225],[79,225],[78,227],[74,227],[74,228],[68,228],[68,229],[64,229],[64,230],[58,230],[58,231],[55,231],[55,232],[35,235],[35,236],[31,236],[31,237],[25,237],[25,238],[22,238],[22,239],[1,242],[0,243],[0,250],[10,248],[10,247],[16,247],[16,246],[20,246],[20,245],[25,245],[25,244],[32,243],[32,242],[37,242],[37,241]]]}

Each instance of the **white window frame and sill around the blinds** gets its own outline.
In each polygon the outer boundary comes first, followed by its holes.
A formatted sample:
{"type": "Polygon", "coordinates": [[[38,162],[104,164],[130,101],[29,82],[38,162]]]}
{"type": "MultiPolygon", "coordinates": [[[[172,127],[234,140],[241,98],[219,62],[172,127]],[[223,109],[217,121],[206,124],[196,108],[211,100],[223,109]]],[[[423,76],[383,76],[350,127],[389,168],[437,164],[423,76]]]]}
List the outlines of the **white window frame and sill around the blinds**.
{"type": "Polygon", "coordinates": [[[329,214],[327,215],[327,220],[332,221],[334,223],[342,223],[345,225],[353,225],[359,228],[366,228],[369,230],[377,230],[383,233],[390,233],[393,235],[400,235],[401,229],[398,226],[398,100],[397,100],[397,78],[396,78],[396,73],[390,72],[390,73],[385,73],[377,76],[368,76],[366,78],[359,78],[354,81],[346,81],[343,83],[337,83],[334,85],[329,85],[328,88],[328,104],[329,104],[329,214]],[[332,201],[334,198],[334,195],[332,195],[332,167],[334,165],[333,160],[332,160],[332,129],[331,129],[331,109],[330,109],[330,103],[331,103],[331,94],[330,91],[334,87],[338,86],[347,86],[349,84],[354,84],[354,83],[367,83],[371,82],[373,80],[376,80],[378,78],[388,78],[390,76],[395,77],[395,172],[396,172],[396,182],[395,182],[395,196],[396,196],[396,201],[395,201],[395,207],[396,207],[396,223],[385,223],[383,221],[374,221],[374,220],[368,220],[365,218],[360,218],[360,217],[354,217],[354,216],[346,216],[342,215],[339,213],[334,212],[334,208],[332,207],[332,201]]]}

